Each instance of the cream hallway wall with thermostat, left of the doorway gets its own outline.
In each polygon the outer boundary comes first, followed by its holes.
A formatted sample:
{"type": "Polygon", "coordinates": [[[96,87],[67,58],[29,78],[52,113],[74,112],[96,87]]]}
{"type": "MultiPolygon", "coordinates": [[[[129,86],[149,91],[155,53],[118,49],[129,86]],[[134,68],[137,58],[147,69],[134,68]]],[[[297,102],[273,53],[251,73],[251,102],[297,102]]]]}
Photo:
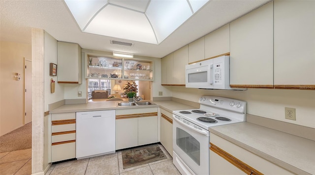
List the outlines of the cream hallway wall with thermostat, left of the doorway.
{"type": "Polygon", "coordinates": [[[0,136],[24,125],[24,57],[32,60],[32,46],[0,43],[0,136]],[[15,73],[21,80],[14,79],[15,73]]]}

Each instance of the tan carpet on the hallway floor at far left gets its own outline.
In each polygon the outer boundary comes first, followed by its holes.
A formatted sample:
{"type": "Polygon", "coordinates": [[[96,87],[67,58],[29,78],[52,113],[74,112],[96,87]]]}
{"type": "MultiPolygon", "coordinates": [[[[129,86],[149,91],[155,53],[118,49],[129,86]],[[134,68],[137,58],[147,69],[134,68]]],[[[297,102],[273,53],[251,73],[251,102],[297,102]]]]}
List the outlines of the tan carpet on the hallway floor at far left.
{"type": "Polygon", "coordinates": [[[32,148],[32,122],[0,137],[0,152],[32,148]]]}

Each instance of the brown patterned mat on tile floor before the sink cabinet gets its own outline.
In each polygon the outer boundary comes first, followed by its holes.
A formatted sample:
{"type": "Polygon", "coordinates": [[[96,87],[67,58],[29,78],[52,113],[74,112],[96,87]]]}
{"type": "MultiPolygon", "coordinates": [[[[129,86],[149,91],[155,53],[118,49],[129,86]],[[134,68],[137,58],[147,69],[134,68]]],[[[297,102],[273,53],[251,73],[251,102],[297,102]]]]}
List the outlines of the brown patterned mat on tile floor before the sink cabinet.
{"type": "Polygon", "coordinates": [[[166,159],[163,150],[158,144],[149,145],[144,147],[133,148],[122,151],[123,168],[127,169],[150,162],[166,159]]]}

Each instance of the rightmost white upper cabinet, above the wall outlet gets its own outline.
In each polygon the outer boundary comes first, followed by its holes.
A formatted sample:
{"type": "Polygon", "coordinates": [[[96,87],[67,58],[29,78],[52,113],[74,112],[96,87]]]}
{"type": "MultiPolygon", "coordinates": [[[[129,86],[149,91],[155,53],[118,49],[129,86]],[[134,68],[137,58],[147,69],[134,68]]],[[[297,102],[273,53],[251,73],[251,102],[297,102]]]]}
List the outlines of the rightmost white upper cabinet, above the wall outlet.
{"type": "Polygon", "coordinates": [[[315,1],[274,1],[275,88],[315,90],[315,1]]]}

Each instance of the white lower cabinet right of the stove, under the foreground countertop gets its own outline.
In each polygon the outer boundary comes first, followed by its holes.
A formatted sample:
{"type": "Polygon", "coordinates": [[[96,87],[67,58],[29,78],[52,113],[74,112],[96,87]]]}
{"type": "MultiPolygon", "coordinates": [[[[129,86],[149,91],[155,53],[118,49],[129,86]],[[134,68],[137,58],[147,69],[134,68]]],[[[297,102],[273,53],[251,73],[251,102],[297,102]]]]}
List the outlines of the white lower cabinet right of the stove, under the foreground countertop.
{"type": "Polygon", "coordinates": [[[210,133],[210,175],[294,175],[284,168],[210,133]]]}

